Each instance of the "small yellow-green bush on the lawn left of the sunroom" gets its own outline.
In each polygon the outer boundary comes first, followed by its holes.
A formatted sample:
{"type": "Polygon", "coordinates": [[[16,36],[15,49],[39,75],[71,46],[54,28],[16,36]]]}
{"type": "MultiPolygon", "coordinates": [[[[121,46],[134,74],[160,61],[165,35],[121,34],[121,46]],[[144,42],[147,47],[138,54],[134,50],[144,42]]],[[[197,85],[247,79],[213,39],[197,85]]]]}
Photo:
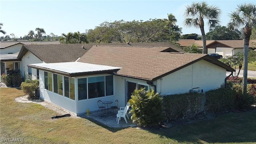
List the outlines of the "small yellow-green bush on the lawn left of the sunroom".
{"type": "Polygon", "coordinates": [[[36,94],[36,88],[39,87],[39,80],[31,80],[30,82],[22,82],[21,88],[25,94],[28,94],[29,98],[33,98],[36,94]]]}

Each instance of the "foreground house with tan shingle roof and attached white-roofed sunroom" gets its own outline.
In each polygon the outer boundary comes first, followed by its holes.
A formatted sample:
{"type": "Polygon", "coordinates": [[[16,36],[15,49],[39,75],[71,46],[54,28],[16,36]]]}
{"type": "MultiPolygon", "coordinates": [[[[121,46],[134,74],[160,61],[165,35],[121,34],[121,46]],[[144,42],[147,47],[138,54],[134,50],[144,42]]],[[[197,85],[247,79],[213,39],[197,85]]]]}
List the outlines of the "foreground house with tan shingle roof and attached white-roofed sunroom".
{"type": "Polygon", "coordinates": [[[40,98],[74,114],[98,110],[98,100],[117,99],[118,106],[125,106],[136,88],[161,95],[206,92],[225,83],[226,71],[235,71],[207,54],[169,51],[169,47],[94,45],[74,62],[28,66],[39,70],[40,98]]]}

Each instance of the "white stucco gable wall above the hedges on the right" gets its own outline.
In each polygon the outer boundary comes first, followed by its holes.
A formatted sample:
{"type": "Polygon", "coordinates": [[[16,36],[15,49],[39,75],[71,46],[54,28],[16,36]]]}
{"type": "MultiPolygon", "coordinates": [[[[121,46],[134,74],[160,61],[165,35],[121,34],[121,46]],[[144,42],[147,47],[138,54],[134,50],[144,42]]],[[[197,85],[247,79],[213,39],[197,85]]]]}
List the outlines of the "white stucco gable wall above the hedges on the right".
{"type": "Polygon", "coordinates": [[[226,78],[226,69],[200,60],[168,76],[157,80],[157,92],[161,95],[189,92],[200,88],[203,92],[220,88],[226,78]]]}

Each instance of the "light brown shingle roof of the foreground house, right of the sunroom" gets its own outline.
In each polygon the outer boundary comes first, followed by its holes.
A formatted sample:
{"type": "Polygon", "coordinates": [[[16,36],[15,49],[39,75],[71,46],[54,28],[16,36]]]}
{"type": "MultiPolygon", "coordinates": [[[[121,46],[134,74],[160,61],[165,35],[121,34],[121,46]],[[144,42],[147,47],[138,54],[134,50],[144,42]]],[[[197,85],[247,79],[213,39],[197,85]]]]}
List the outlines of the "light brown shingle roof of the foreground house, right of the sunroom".
{"type": "Polygon", "coordinates": [[[121,67],[117,74],[156,80],[201,59],[234,71],[208,54],[161,52],[168,47],[93,46],[78,62],[121,67]]]}

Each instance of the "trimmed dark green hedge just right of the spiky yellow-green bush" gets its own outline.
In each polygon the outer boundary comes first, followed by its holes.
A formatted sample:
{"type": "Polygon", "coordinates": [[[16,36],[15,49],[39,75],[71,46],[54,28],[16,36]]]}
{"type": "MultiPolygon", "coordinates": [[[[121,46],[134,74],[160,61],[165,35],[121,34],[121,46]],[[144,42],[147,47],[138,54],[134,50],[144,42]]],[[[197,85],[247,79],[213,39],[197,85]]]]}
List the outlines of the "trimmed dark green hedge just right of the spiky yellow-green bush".
{"type": "Polygon", "coordinates": [[[197,92],[163,96],[164,115],[168,120],[195,115],[201,110],[203,96],[197,92]]]}

